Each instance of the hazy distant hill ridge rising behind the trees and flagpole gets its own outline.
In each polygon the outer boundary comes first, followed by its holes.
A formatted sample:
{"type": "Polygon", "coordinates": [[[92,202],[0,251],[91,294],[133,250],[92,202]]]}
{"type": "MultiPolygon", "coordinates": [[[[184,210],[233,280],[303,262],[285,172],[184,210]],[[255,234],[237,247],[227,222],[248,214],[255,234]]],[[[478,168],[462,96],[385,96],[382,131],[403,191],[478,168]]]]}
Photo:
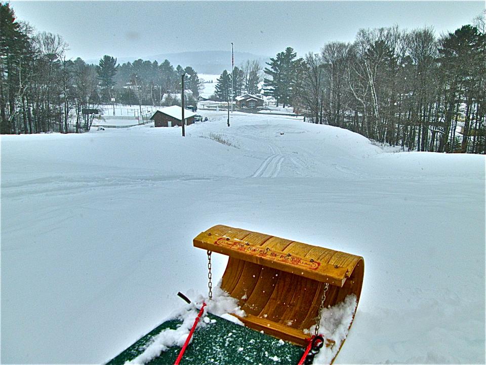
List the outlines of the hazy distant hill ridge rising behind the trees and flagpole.
{"type": "MultiPolygon", "coordinates": [[[[116,57],[116,55],[111,55],[116,57]]],[[[101,57],[100,57],[101,58],[101,57]]],[[[219,75],[223,70],[231,70],[231,51],[195,51],[195,52],[178,52],[178,53],[160,53],[144,57],[117,57],[118,63],[133,62],[136,59],[143,59],[148,61],[163,62],[168,59],[171,64],[176,67],[191,66],[198,74],[214,74],[219,75]]],[[[240,66],[246,60],[260,60],[262,66],[269,61],[269,56],[256,55],[249,52],[234,52],[234,64],[240,66]]],[[[99,59],[86,60],[87,63],[98,64],[99,59]]]]}

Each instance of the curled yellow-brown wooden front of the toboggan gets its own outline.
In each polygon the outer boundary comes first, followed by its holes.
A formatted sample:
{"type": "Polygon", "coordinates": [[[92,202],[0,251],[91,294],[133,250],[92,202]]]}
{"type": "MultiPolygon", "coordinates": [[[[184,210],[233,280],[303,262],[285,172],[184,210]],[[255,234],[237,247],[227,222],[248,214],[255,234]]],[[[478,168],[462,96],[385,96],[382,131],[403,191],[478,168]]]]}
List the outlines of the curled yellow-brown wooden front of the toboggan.
{"type": "Polygon", "coordinates": [[[360,256],[222,225],[200,233],[193,244],[229,256],[221,288],[246,312],[238,319],[279,339],[307,345],[304,331],[316,322],[326,283],[324,308],[349,295],[356,306],[359,301],[365,269],[360,256]]]}

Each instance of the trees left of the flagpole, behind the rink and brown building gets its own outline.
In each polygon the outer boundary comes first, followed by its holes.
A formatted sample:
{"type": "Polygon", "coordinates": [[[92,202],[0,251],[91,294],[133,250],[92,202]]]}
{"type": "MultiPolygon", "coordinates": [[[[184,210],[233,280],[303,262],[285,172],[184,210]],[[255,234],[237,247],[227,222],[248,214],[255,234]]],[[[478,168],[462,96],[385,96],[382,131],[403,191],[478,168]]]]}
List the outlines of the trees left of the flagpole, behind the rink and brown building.
{"type": "MultiPolygon", "coordinates": [[[[190,66],[138,59],[121,65],[105,55],[98,65],[66,59],[58,34],[34,33],[0,3],[0,133],[83,132],[103,104],[162,105],[165,94],[184,88],[197,98],[202,82],[190,66]],[[113,101],[114,99],[114,101],[113,101]]],[[[180,103],[174,97],[165,98],[180,103]]],[[[189,100],[194,103],[195,100],[189,100]]]]}

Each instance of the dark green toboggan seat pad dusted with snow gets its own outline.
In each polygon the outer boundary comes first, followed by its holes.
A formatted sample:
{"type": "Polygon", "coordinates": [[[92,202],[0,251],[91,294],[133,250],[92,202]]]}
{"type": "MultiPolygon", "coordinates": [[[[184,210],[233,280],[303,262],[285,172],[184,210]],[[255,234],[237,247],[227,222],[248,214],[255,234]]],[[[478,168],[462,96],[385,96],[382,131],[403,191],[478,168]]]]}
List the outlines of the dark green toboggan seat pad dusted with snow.
{"type": "MultiPolygon", "coordinates": [[[[210,323],[197,326],[191,343],[187,346],[181,365],[203,364],[297,364],[304,348],[290,342],[233,323],[227,319],[207,313],[210,323]]],[[[201,320],[203,320],[201,318],[201,320]]],[[[180,319],[168,320],[143,336],[128,349],[107,362],[107,365],[124,364],[142,354],[154,336],[165,329],[175,330],[180,319]]],[[[170,347],[147,364],[173,364],[181,348],[170,347]]]]}

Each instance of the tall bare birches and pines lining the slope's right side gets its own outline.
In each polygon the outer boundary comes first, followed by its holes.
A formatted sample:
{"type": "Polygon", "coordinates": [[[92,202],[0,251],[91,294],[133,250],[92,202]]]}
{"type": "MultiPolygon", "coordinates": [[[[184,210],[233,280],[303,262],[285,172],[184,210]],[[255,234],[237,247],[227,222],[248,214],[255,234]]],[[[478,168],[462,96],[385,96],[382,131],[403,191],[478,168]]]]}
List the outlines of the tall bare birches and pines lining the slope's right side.
{"type": "Polygon", "coordinates": [[[432,28],[360,29],[298,58],[271,58],[264,93],[313,123],[408,151],[486,153],[484,16],[437,38],[432,28]]]}

